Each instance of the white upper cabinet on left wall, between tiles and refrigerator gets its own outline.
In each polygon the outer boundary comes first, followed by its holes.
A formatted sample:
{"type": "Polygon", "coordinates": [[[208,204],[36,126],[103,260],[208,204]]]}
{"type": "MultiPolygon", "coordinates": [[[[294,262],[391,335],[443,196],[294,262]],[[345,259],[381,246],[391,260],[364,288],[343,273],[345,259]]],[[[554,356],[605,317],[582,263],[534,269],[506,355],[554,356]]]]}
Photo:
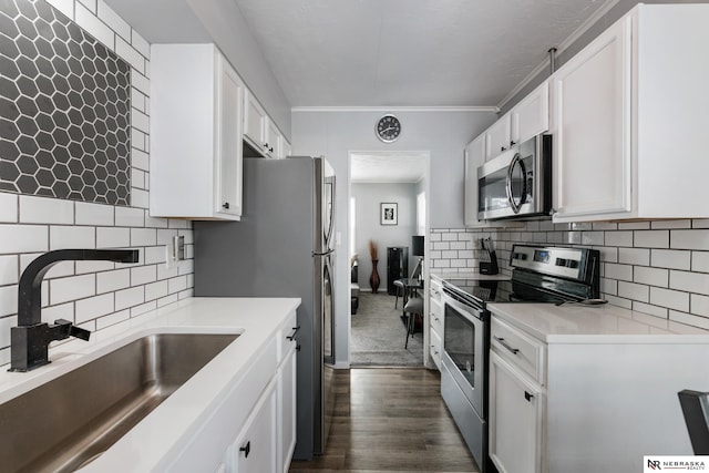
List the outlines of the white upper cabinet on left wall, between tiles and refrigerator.
{"type": "Polygon", "coordinates": [[[244,90],[214,44],[151,47],[152,216],[239,219],[244,90]]]}

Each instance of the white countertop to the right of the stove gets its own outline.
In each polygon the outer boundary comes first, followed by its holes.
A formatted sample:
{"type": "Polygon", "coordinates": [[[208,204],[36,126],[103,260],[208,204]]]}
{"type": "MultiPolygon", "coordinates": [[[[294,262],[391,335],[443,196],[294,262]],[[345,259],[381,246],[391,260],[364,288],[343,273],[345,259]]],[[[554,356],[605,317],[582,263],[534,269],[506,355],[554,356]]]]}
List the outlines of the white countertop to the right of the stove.
{"type": "Polygon", "coordinates": [[[490,304],[494,316],[546,343],[709,343],[709,331],[620,307],[490,304]]]}

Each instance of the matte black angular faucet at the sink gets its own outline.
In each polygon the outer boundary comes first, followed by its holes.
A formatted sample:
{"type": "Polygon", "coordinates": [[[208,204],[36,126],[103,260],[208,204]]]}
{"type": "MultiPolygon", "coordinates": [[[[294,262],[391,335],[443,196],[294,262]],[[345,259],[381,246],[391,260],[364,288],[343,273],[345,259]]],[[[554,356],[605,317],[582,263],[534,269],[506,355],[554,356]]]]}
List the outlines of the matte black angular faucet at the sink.
{"type": "Polygon", "coordinates": [[[35,258],[22,271],[18,287],[18,327],[10,329],[10,370],[30,371],[49,363],[49,343],[76,337],[89,340],[89,330],[64,319],[42,322],[42,279],[60,261],[137,263],[137,249],[58,249],[35,258]]]}

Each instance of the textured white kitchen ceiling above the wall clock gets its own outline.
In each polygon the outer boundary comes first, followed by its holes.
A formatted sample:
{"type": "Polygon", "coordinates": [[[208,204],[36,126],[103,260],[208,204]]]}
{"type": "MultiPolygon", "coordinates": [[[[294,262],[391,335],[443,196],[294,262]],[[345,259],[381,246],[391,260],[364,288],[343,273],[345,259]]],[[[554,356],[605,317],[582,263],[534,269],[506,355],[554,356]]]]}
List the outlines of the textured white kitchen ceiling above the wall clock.
{"type": "Polygon", "coordinates": [[[234,0],[291,106],[495,106],[609,0],[234,0]]]}

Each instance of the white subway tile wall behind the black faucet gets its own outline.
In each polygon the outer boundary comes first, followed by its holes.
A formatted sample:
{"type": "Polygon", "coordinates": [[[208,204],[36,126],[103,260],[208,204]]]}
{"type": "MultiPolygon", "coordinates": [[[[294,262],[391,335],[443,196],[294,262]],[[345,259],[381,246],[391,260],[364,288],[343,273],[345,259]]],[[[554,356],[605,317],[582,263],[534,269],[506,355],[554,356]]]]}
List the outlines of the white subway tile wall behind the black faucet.
{"type": "MultiPolygon", "coordinates": [[[[18,280],[40,254],[62,248],[140,249],[135,265],[66,261],[43,284],[42,319],[64,318],[91,331],[121,331],[145,312],[191,297],[188,222],[151,218],[148,205],[150,44],[103,1],[50,0],[131,64],[132,140],[130,207],[0,193],[0,366],[10,362],[17,326],[18,280]],[[184,235],[187,260],[166,268],[165,245],[184,235]]],[[[0,368],[3,369],[3,368],[0,368]]]]}

